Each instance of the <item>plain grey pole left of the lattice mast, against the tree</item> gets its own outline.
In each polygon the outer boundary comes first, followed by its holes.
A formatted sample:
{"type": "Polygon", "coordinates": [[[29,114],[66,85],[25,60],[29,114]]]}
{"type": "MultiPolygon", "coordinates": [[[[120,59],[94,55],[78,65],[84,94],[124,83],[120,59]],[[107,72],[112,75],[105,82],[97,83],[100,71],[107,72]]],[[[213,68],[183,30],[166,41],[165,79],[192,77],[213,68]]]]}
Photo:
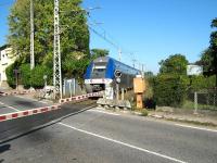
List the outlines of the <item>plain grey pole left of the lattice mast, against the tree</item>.
{"type": "Polygon", "coordinates": [[[30,0],[30,70],[35,67],[34,30],[34,2],[30,0]]]}

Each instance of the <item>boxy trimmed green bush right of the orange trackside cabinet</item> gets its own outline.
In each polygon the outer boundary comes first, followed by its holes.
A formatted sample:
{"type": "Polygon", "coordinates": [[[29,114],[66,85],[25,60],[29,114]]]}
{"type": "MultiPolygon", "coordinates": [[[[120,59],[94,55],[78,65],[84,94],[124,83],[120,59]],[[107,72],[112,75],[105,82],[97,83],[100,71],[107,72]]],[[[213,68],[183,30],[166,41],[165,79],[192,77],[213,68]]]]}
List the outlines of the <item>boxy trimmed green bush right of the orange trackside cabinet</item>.
{"type": "Polygon", "coordinates": [[[157,105],[181,106],[187,97],[187,77],[158,75],[154,80],[154,98],[157,105]]]}

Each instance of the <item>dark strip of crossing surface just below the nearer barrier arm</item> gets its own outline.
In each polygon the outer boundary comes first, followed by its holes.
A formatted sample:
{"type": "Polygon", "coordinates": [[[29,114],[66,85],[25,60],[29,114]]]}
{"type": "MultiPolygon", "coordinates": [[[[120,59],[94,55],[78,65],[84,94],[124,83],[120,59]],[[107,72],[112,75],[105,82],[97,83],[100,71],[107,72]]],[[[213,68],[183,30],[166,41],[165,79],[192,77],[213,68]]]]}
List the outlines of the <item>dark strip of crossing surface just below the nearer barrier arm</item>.
{"type": "Polygon", "coordinates": [[[80,104],[79,102],[74,104],[63,104],[61,110],[1,122],[0,145],[53,125],[68,116],[84,112],[82,109],[87,106],[94,105],[95,103],[84,104],[82,102],[80,102],[80,104]]]}

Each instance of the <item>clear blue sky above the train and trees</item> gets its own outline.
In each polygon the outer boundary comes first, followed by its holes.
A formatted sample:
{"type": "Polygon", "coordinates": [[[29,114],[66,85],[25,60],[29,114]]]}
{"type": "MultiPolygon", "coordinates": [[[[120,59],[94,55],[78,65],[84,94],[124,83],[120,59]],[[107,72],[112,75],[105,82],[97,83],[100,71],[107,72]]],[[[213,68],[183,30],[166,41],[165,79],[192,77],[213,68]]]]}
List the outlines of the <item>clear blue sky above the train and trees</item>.
{"type": "MultiPolygon", "coordinates": [[[[0,46],[8,35],[5,3],[13,1],[0,0],[0,46]]],[[[217,17],[217,0],[84,0],[82,7],[100,7],[90,10],[89,24],[98,32],[90,30],[91,49],[107,49],[115,59],[120,49],[122,62],[132,65],[137,60],[136,67],[144,64],[155,74],[158,62],[170,54],[184,54],[190,63],[200,60],[217,17]]]]}

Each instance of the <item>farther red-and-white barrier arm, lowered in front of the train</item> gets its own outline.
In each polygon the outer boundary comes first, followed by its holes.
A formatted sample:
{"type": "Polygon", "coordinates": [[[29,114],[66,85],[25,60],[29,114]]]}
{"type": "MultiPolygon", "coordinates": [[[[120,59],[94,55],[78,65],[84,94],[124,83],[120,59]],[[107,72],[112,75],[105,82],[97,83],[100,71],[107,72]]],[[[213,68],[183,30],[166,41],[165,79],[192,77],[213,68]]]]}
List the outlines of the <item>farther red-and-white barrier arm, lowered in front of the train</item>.
{"type": "Polygon", "coordinates": [[[81,96],[76,96],[76,97],[72,97],[72,98],[66,98],[66,99],[61,99],[59,102],[60,103],[66,103],[66,102],[71,102],[71,101],[80,101],[80,100],[85,100],[91,97],[102,97],[104,93],[104,91],[99,91],[99,92],[91,92],[91,93],[87,93],[87,95],[81,95],[81,96]]]}

